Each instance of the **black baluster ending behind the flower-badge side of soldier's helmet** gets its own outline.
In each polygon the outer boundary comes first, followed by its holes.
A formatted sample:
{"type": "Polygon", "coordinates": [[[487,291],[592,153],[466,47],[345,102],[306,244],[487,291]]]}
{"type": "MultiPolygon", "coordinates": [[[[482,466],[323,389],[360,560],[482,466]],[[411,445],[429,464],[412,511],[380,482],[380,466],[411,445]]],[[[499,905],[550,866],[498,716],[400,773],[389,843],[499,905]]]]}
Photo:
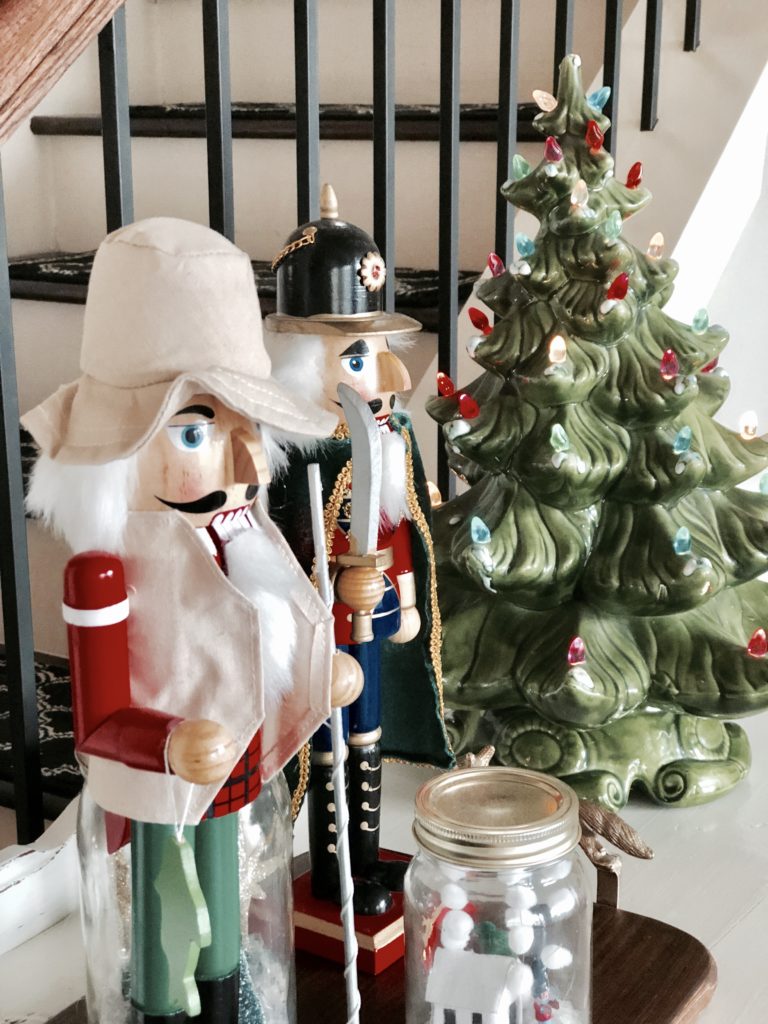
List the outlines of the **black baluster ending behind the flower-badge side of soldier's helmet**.
{"type": "Polygon", "coordinates": [[[384,308],[394,309],[394,0],[374,2],[374,239],[387,263],[384,308]]]}

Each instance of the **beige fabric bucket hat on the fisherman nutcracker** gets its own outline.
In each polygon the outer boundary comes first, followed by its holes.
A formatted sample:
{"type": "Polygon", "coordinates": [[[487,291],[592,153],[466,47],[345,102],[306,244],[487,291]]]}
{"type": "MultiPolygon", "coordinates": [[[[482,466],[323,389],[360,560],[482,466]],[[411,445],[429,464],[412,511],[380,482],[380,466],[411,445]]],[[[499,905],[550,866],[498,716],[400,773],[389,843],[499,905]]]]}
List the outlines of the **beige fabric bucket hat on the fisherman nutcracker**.
{"type": "Polygon", "coordinates": [[[140,220],[98,247],[80,369],[22,418],[61,462],[131,455],[200,392],[294,434],[326,436],[337,422],[270,378],[246,253],[186,220],[140,220]]]}

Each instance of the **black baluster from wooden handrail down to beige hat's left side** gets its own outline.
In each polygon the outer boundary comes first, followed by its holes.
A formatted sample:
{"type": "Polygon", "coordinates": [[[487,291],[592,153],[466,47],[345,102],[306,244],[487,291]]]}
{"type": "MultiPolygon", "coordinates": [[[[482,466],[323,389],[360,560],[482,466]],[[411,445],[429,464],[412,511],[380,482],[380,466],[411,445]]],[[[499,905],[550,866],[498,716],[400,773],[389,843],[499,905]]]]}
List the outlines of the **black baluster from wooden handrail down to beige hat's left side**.
{"type": "Polygon", "coordinates": [[[106,230],[114,231],[133,220],[125,7],[118,7],[112,20],[98,34],[98,80],[106,230]]]}

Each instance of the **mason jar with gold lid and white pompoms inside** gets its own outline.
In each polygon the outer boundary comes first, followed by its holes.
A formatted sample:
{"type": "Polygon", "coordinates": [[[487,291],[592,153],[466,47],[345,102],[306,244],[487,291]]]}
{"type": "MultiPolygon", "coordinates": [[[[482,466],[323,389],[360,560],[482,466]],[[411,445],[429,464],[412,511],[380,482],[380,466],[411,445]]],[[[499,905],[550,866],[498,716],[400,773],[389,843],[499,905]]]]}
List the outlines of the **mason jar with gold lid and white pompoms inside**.
{"type": "Polygon", "coordinates": [[[467,768],[416,796],[407,1024],[589,1024],[592,900],[579,800],[538,772],[467,768]]]}

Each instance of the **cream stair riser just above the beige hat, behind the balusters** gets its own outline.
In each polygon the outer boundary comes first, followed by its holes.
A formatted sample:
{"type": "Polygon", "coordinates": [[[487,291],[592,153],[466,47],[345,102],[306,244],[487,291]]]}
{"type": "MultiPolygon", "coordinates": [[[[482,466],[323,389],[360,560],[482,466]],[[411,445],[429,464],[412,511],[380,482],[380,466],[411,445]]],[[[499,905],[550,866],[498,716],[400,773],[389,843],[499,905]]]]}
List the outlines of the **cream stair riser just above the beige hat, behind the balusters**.
{"type": "MultiPolygon", "coordinates": [[[[93,249],[104,234],[103,172],[99,138],[45,140],[55,209],[55,246],[93,249]]],[[[373,230],[373,158],[370,142],[324,141],[321,177],[331,181],[341,215],[373,230]]],[[[538,160],[542,146],[520,147],[538,160]]],[[[208,220],[204,139],[136,138],[132,145],[136,218],[158,214],[208,220]]],[[[255,259],[271,259],[297,226],[296,150],[290,140],[237,139],[236,241],[255,259]]],[[[399,142],[395,166],[395,259],[400,266],[437,266],[438,145],[399,142]]],[[[494,247],[496,146],[461,150],[460,263],[484,266],[494,247]]]]}

